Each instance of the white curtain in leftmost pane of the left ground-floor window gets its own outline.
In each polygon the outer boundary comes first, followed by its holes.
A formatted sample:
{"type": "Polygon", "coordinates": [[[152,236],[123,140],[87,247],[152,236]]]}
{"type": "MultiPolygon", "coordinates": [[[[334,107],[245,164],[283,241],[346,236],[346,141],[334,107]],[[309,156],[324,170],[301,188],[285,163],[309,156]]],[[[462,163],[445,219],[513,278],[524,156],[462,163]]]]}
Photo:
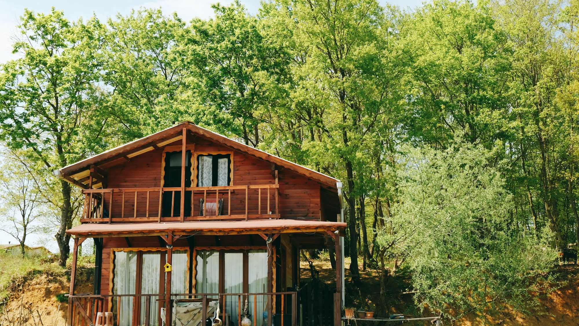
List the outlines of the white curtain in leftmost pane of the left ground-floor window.
{"type": "MultiPolygon", "coordinates": [[[[137,252],[117,251],[115,252],[114,263],[112,294],[135,294],[137,252]]],[[[119,326],[130,326],[133,323],[133,297],[122,296],[120,300],[116,301],[116,305],[120,306],[119,326]]],[[[116,305],[112,310],[115,313],[117,311],[116,305]]]]}

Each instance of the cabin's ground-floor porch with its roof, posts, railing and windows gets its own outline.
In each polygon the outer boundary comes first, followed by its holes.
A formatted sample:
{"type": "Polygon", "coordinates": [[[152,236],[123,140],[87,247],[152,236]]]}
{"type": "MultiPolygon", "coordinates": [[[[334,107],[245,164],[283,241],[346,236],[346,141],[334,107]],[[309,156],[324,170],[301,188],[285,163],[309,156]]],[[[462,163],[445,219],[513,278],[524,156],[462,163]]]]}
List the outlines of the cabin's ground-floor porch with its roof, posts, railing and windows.
{"type": "Polygon", "coordinates": [[[223,325],[239,326],[246,300],[251,325],[307,325],[301,307],[312,302],[292,269],[299,248],[329,245],[336,252],[336,285],[328,313],[332,325],[340,325],[344,227],[285,219],[81,224],[68,231],[75,235],[69,325],[96,325],[98,313],[112,313],[111,326],[206,325],[219,307],[223,325]],[[108,284],[77,294],[78,245],[89,237],[97,244],[95,279],[108,284]]]}

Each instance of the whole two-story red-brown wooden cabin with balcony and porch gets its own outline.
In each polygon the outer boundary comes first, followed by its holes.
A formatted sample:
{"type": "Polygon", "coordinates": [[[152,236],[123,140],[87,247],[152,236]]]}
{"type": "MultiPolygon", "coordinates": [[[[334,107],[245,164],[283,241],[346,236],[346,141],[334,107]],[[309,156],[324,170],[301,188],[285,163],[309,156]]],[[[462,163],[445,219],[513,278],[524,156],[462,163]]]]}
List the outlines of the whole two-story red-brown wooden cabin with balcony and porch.
{"type": "Polygon", "coordinates": [[[335,248],[336,291],[327,306],[340,325],[339,180],[191,122],[54,173],[85,196],[81,224],[67,231],[74,236],[69,325],[204,326],[217,311],[229,326],[246,313],[254,326],[321,325],[300,318],[316,305],[299,293],[304,248],[335,248]],[[86,238],[96,244],[94,293],[76,294],[86,238]]]}

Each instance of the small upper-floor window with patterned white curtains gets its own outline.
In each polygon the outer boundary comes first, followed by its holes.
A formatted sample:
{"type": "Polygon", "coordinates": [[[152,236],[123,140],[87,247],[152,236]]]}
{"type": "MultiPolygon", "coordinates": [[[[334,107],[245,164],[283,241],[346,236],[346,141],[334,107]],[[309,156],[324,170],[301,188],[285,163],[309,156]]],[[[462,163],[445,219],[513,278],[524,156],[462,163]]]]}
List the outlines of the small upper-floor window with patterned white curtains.
{"type": "Polygon", "coordinates": [[[231,154],[197,155],[197,186],[230,186],[231,154]]]}

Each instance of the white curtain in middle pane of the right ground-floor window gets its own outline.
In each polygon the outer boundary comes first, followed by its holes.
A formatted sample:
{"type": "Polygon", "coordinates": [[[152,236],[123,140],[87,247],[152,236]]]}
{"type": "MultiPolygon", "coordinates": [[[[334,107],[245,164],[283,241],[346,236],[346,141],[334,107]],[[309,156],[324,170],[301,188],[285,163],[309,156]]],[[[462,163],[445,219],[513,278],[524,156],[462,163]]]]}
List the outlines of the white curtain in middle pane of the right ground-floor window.
{"type": "MultiPolygon", "coordinates": [[[[226,252],[224,263],[223,285],[225,286],[225,293],[243,293],[243,252],[226,252]]],[[[225,313],[229,314],[234,326],[238,326],[239,308],[237,296],[225,296],[225,313]]]]}

